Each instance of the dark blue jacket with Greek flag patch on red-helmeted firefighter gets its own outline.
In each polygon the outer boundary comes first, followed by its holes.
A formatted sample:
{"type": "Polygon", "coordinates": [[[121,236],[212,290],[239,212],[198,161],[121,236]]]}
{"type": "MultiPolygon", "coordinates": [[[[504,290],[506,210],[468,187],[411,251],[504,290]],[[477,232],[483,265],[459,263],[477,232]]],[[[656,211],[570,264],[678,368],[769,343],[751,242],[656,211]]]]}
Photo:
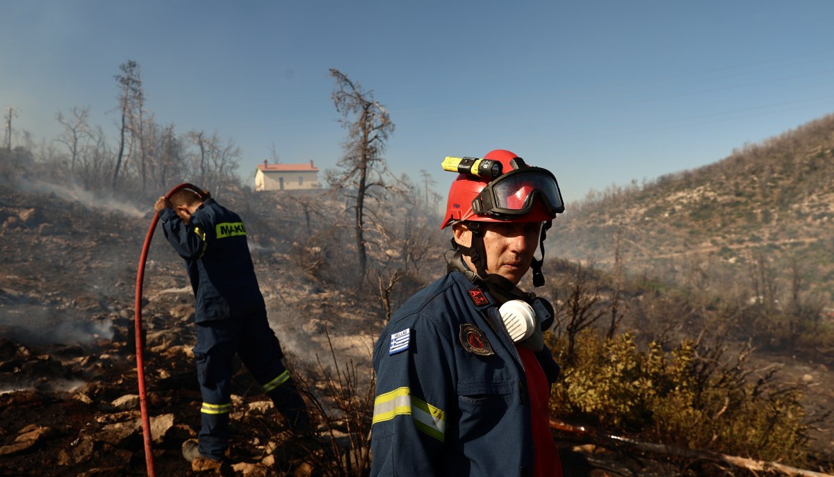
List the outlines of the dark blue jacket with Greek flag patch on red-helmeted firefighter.
{"type": "MultiPolygon", "coordinates": [[[[537,358],[555,380],[550,351],[537,358]]],[[[372,476],[530,474],[525,369],[495,300],[464,274],[403,304],[374,346],[374,369],[372,476]]]]}

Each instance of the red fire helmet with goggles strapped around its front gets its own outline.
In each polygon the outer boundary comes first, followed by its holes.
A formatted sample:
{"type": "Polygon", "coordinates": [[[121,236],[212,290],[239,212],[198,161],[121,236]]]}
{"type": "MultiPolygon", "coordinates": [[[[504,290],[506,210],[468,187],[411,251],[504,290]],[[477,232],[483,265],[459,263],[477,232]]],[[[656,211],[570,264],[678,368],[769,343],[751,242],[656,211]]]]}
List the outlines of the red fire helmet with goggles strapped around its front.
{"type": "Polygon", "coordinates": [[[549,170],[528,166],[505,149],[490,151],[484,159],[499,162],[502,173],[496,178],[458,174],[440,228],[465,220],[545,222],[565,211],[559,184],[549,170]]]}

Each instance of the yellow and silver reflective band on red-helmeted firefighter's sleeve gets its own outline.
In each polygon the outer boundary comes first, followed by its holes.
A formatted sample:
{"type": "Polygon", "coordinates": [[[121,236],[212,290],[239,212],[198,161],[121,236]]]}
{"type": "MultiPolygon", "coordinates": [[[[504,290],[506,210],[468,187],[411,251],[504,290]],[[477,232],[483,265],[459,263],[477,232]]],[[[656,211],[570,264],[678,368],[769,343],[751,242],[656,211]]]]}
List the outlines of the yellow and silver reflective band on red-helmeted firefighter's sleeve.
{"type": "Polygon", "coordinates": [[[446,413],[443,409],[417,399],[411,389],[399,388],[374,399],[374,422],[394,419],[398,415],[410,414],[417,429],[443,442],[446,433],[446,413]]]}

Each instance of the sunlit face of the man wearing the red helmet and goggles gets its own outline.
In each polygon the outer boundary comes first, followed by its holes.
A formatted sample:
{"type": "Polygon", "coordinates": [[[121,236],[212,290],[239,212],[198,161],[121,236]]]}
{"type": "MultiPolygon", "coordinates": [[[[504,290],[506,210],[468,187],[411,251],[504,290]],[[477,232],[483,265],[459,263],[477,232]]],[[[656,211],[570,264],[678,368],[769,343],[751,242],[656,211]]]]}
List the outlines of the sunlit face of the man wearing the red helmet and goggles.
{"type": "MultiPolygon", "coordinates": [[[[539,245],[540,230],[540,222],[480,223],[486,251],[486,273],[499,274],[517,285],[530,269],[533,254],[539,245]]],[[[455,226],[454,233],[458,244],[472,245],[472,232],[465,223],[455,226]]],[[[474,270],[469,257],[464,259],[474,270]]]]}

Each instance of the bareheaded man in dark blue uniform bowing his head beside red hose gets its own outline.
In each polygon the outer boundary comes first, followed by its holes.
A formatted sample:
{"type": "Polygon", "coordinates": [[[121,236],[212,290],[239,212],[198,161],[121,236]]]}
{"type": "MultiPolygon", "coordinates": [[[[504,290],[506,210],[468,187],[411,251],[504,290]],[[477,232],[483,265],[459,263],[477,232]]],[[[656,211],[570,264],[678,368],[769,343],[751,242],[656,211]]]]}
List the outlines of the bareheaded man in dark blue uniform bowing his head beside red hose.
{"type": "Polygon", "coordinates": [[[225,459],[234,354],[249,369],[289,427],[309,434],[309,414],[289,371],[255,276],[246,228],[237,213],[200,188],[182,188],[153,204],[163,231],[185,259],[195,299],[194,358],[203,406],[198,440],[183,443],[188,461],[225,459]]]}

